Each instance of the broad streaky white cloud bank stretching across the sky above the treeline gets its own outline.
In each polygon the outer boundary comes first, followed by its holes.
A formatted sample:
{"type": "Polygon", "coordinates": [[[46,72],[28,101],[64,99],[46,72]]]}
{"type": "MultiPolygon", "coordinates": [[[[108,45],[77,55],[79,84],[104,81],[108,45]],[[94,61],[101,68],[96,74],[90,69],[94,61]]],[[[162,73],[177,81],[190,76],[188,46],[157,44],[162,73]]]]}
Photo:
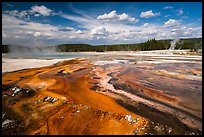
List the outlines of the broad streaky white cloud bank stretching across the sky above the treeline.
{"type": "MultiPolygon", "coordinates": [[[[15,11],[12,14],[18,15],[19,12],[15,11]]],[[[33,15],[35,14],[38,13],[33,15]]],[[[111,16],[114,18],[115,15],[117,15],[115,19],[118,21],[113,23],[94,19],[89,14],[86,16],[59,14],[60,17],[77,23],[78,28],[72,28],[38,23],[32,20],[25,21],[17,18],[17,16],[3,13],[2,42],[29,46],[31,44],[42,46],[61,43],[116,44],[144,42],[151,38],[169,39],[202,36],[202,27],[199,28],[193,24],[191,26],[182,25],[181,21],[175,19],[169,19],[164,25],[151,23],[133,25],[122,21],[130,18],[127,14],[124,13],[119,16],[113,12],[111,16]]]]}

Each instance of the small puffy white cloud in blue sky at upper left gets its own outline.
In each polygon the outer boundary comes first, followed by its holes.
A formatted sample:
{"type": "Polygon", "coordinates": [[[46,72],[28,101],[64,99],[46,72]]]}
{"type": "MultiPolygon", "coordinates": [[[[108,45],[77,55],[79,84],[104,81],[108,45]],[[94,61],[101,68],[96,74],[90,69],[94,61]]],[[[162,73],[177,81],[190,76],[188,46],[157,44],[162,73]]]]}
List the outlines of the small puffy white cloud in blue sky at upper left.
{"type": "Polygon", "coordinates": [[[50,16],[52,13],[52,10],[41,5],[41,6],[32,6],[31,12],[32,13],[38,13],[38,14],[43,15],[43,16],[50,16]]]}

